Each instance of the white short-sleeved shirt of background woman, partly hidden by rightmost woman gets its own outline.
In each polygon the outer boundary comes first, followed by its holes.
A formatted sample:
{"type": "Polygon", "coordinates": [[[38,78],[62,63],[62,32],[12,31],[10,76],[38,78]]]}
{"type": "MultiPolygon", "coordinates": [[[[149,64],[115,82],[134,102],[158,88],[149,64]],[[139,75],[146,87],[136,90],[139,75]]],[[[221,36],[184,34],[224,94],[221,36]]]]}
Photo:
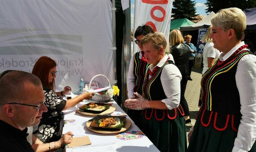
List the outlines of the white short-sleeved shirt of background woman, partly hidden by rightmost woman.
{"type": "Polygon", "coordinates": [[[203,72],[208,70],[208,60],[207,58],[216,59],[221,53],[219,50],[213,47],[214,44],[212,42],[207,42],[203,48],[203,72]]]}

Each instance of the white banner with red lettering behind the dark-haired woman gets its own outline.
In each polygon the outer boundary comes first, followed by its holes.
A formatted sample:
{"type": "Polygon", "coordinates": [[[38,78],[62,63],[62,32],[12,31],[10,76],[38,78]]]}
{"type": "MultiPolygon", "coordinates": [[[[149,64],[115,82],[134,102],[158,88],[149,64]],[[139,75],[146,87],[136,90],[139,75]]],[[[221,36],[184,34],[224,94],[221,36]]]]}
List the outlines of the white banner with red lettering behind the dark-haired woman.
{"type": "MultiPolygon", "coordinates": [[[[169,51],[171,13],[172,0],[135,0],[133,33],[138,26],[150,25],[155,32],[162,32],[165,35],[168,44],[166,51],[169,51]]],[[[134,40],[136,39],[133,38],[134,40]]],[[[133,53],[139,50],[137,45],[133,45],[133,53]]]]}

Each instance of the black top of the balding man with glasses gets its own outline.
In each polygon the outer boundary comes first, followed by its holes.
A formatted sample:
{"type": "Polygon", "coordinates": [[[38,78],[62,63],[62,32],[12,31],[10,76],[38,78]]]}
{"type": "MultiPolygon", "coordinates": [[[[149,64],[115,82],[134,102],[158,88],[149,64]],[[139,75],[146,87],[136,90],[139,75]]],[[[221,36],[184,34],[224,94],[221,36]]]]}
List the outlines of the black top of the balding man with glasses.
{"type": "Polygon", "coordinates": [[[0,149],[2,152],[34,152],[27,142],[27,128],[23,131],[0,120],[0,149]]]}

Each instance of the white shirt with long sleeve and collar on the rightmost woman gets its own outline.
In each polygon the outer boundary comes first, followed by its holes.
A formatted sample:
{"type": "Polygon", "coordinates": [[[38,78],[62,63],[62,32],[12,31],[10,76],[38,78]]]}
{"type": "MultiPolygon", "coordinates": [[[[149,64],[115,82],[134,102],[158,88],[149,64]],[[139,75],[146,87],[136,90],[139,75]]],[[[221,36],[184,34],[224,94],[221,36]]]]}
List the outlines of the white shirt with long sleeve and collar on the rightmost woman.
{"type": "MultiPolygon", "coordinates": [[[[239,43],[219,59],[228,59],[244,42],[239,43]]],[[[247,152],[256,139],[256,56],[245,55],[238,62],[235,74],[241,104],[242,119],[232,152],[247,152]]]]}

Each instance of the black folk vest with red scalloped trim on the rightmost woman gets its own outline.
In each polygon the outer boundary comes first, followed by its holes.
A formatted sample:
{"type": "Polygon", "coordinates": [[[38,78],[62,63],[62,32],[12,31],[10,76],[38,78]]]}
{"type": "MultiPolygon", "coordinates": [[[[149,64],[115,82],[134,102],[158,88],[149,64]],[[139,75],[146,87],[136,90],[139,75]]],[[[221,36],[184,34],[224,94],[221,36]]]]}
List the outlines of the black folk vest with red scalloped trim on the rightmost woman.
{"type": "Polygon", "coordinates": [[[202,102],[198,118],[204,127],[213,126],[218,131],[231,127],[238,131],[241,116],[240,97],[235,74],[239,60],[250,54],[236,51],[225,61],[219,59],[202,77],[202,102]]]}

